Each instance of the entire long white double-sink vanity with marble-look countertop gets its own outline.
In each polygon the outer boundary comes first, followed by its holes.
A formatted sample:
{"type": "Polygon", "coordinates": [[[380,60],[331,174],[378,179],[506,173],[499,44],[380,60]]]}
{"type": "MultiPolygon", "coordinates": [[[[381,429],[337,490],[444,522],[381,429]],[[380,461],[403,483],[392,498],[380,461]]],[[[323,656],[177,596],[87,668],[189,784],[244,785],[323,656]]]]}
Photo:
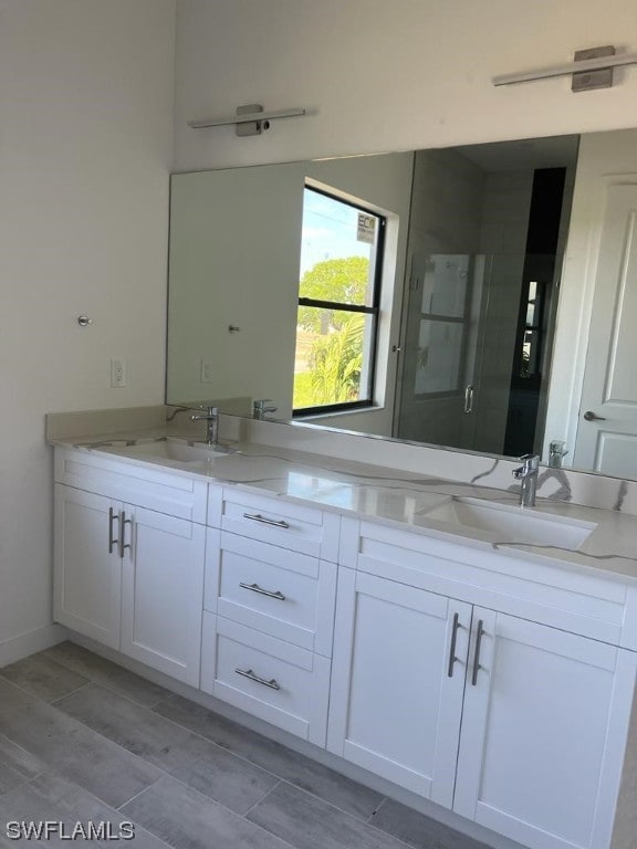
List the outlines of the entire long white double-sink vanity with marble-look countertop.
{"type": "Polygon", "coordinates": [[[618,846],[637,517],[255,443],[72,442],[56,621],[530,849],[618,846]]]}

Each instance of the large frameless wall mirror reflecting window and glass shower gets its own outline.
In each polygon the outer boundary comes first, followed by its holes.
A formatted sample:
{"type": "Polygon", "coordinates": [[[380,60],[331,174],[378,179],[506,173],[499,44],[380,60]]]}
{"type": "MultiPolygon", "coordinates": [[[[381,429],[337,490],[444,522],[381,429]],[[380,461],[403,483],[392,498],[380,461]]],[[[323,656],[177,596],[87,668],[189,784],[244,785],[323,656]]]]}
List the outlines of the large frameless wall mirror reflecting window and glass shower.
{"type": "Polygon", "coordinates": [[[167,402],[637,479],[636,210],[634,130],[174,175],[167,402]]]}

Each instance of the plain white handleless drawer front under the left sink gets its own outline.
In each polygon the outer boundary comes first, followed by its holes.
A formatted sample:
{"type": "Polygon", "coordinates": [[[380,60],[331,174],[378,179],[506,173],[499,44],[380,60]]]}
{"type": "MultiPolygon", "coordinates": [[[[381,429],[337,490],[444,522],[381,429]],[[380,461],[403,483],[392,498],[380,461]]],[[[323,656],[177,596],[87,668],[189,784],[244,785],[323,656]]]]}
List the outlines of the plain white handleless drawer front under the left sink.
{"type": "Polygon", "coordinates": [[[205,524],[208,484],[187,474],[115,460],[83,449],[55,449],[55,481],[205,524]]]}

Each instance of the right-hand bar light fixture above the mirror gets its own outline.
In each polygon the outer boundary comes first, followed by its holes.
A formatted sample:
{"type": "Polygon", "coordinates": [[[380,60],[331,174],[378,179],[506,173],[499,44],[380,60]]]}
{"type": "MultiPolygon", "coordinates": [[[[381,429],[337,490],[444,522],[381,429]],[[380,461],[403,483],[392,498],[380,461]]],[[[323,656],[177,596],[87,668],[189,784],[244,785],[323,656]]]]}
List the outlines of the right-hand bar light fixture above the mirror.
{"type": "Polygon", "coordinates": [[[613,85],[613,69],[623,65],[637,65],[637,53],[620,53],[615,55],[615,48],[591,48],[578,50],[574,61],[567,65],[553,65],[537,71],[525,71],[518,74],[494,76],[493,85],[512,85],[526,83],[532,80],[547,80],[552,76],[573,75],[572,91],[587,92],[592,88],[609,88],[613,85]]]}

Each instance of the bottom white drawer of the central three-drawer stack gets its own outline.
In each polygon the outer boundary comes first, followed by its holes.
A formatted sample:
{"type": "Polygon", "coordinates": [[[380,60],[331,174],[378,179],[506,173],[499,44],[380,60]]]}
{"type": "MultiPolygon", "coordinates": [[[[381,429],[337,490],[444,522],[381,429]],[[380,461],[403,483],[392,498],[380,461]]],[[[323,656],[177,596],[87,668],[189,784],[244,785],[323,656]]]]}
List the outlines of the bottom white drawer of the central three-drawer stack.
{"type": "Polygon", "coordinates": [[[325,746],[330,661],[203,612],[201,689],[325,746]]]}

